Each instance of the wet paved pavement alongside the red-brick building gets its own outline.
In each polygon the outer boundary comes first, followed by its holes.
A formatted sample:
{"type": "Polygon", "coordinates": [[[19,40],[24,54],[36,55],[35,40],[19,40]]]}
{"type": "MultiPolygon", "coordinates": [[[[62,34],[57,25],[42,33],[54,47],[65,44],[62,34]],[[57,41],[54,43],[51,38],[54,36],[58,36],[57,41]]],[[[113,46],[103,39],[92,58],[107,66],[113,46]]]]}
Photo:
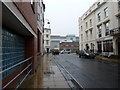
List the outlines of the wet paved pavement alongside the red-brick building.
{"type": "Polygon", "coordinates": [[[64,88],[70,89],[70,86],[58,66],[53,61],[52,55],[44,55],[39,60],[40,65],[34,75],[29,76],[21,85],[21,88],[64,88]]]}

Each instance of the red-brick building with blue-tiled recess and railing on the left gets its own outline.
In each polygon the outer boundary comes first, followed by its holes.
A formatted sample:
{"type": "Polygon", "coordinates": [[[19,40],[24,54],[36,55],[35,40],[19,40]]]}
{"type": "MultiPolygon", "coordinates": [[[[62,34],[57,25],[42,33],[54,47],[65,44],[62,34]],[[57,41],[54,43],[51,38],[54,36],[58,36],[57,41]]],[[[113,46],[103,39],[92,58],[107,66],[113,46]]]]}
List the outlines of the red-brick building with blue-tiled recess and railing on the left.
{"type": "MultiPolygon", "coordinates": [[[[35,73],[43,24],[37,20],[38,4],[43,2],[1,2],[0,76],[1,88],[19,88],[24,79],[35,73]],[[38,22],[37,22],[38,21],[38,22]]],[[[43,20],[43,19],[42,19],[43,20]]],[[[41,22],[43,23],[43,21],[41,22]]]]}

